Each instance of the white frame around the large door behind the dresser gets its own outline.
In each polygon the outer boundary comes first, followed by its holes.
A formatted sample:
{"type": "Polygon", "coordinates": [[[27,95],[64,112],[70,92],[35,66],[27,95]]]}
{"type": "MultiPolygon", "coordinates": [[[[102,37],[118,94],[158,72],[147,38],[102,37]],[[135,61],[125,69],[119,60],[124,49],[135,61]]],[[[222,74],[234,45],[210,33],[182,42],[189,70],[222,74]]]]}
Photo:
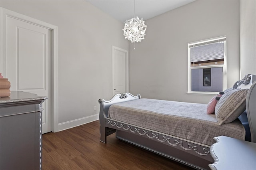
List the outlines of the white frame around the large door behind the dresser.
{"type": "Polygon", "coordinates": [[[0,7],[0,72],[6,73],[6,18],[14,18],[52,32],[52,132],[58,132],[58,27],[0,7]]]}

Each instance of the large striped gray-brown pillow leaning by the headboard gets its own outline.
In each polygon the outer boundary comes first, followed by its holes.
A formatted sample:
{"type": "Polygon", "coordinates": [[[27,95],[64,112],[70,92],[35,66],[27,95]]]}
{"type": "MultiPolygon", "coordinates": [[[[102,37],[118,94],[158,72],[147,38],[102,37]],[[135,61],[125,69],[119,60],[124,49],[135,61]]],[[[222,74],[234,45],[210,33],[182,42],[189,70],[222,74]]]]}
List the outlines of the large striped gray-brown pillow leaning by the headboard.
{"type": "Polygon", "coordinates": [[[234,89],[226,92],[215,106],[215,115],[219,125],[230,123],[246,109],[248,89],[234,89]]]}

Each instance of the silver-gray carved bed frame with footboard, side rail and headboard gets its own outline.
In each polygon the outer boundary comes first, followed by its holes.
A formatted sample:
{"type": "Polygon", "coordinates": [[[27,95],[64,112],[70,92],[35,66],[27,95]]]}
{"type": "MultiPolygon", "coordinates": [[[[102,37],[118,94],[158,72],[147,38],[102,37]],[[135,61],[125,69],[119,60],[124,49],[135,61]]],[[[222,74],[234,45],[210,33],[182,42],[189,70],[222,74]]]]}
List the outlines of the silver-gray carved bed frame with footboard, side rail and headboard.
{"type": "MultiPolygon", "coordinates": [[[[239,82],[239,81],[238,81],[239,82]]],[[[256,142],[256,81],[251,83],[246,98],[246,111],[239,117],[246,129],[246,140],[256,142]]],[[[237,82],[233,88],[237,87],[237,82]]],[[[100,103],[100,141],[106,143],[107,136],[116,132],[116,138],[150,150],[192,168],[210,169],[214,162],[210,146],[171,136],[143,127],[134,126],[108,117],[108,109],[115,103],[141,99],[130,93],[115,95],[111,100],[99,99],[100,103]]]]}

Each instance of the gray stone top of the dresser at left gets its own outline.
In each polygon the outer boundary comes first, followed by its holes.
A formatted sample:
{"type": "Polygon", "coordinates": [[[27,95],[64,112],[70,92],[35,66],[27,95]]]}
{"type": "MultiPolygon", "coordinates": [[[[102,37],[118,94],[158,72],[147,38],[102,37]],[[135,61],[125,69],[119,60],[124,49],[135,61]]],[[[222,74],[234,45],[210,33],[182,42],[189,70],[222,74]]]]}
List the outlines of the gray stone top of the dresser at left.
{"type": "Polygon", "coordinates": [[[34,101],[34,100],[45,100],[48,97],[37,96],[34,93],[28,93],[23,91],[11,91],[9,97],[0,97],[0,103],[12,103],[12,102],[21,102],[21,101],[34,101]]]}

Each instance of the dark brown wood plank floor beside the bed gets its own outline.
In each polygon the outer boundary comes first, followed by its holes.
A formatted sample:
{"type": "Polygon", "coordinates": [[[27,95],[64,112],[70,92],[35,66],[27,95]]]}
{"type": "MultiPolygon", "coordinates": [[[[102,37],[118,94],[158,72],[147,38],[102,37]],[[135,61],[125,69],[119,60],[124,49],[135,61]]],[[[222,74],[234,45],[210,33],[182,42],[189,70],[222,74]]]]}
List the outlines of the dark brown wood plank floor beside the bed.
{"type": "Polygon", "coordinates": [[[94,121],[56,133],[43,134],[43,170],[190,170],[191,168],[132,144],[107,137],[100,142],[94,121]]]}

